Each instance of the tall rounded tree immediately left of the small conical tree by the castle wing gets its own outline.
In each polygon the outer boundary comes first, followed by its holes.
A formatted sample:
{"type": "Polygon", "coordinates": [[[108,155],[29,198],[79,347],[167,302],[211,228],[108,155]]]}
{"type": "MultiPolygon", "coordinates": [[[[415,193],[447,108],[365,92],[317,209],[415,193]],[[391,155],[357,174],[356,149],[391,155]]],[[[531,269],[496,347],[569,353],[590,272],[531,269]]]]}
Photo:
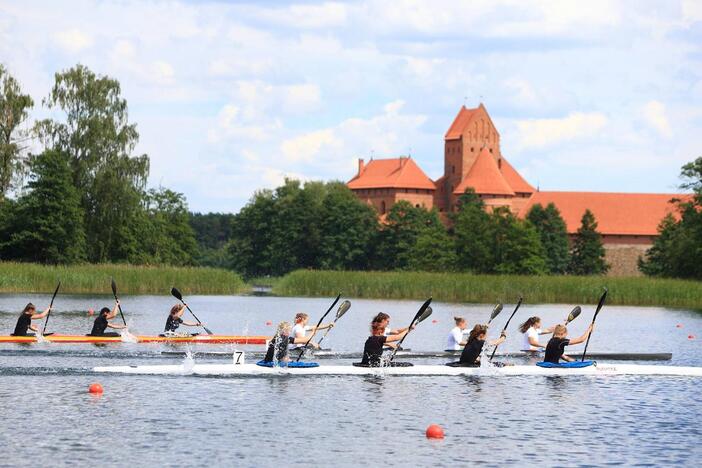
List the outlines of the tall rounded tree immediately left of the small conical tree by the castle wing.
{"type": "Polygon", "coordinates": [[[526,216],[536,228],[546,252],[549,273],[562,275],[568,268],[568,232],[566,224],[556,205],[549,203],[546,208],[537,203],[526,216]]]}

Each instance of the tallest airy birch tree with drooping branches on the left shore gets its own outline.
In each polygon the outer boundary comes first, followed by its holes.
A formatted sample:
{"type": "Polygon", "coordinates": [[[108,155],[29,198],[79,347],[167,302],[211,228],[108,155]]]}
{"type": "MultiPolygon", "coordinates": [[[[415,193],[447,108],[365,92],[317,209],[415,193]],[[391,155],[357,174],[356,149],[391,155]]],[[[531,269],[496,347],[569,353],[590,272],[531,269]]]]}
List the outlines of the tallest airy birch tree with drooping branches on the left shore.
{"type": "Polygon", "coordinates": [[[149,159],[132,156],[139,135],[129,123],[119,82],[77,65],[55,75],[43,102],[65,113],[64,120],[38,122],[36,130],[47,147],[70,157],[73,183],[82,194],[89,259],[138,257],[149,159]]]}

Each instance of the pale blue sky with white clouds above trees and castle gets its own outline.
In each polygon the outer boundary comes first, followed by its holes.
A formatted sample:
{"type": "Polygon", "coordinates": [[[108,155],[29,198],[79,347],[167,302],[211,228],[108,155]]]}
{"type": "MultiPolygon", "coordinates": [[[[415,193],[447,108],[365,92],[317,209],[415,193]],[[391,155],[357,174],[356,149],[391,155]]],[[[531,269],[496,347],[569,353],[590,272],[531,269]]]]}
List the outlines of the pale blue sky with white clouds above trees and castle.
{"type": "Polygon", "coordinates": [[[0,1],[0,63],[47,115],[54,73],[119,80],[150,186],[237,212],[359,157],[443,174],[484,103],[541,190],[674,193],[702,156],[702,1],[0,1]]]}

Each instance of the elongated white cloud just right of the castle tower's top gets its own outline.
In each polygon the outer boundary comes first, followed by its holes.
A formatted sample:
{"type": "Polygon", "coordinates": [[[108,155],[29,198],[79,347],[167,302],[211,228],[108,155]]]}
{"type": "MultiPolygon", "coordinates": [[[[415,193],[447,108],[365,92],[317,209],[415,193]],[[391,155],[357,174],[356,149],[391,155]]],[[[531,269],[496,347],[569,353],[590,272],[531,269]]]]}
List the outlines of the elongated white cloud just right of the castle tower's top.
{"type": "Polygon", "coordinates": [[[529,119],[517,122],[521,148],[540,148],[596,135],[607,117],[599,112],[574,112],[560,119],[529,119]]]}

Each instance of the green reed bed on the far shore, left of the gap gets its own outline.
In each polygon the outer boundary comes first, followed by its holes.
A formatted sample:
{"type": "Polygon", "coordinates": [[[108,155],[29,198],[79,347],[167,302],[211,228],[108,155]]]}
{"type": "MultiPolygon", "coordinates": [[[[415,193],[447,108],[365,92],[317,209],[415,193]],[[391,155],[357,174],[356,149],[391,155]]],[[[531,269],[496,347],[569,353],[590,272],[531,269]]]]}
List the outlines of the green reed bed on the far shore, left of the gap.
{"type": "Polygon", "coordinates": [[[110,278],[117,282],[120,295],[169,294],[172,286],[188,295],[236,294],[246,289],[239,275],[217,268],[0,262],[3,293],[50,293],[61,281],[61,291],[65,293],[112,294],[110,278]]]}

